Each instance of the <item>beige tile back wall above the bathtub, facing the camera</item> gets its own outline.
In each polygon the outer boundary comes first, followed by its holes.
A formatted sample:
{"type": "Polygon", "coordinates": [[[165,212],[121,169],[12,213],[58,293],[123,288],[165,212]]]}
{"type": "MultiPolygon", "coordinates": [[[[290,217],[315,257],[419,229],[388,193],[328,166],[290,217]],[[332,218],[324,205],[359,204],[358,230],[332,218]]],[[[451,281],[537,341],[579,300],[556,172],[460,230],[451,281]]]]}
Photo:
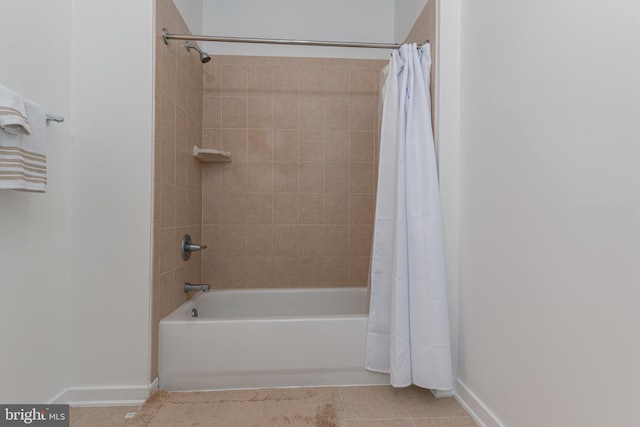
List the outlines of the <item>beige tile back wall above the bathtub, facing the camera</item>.
{"type": "Polygon", "coordinates": [[[366,286],[379,70],[387,61],[214,56],[204,67],[203,279],[366,286]]]}

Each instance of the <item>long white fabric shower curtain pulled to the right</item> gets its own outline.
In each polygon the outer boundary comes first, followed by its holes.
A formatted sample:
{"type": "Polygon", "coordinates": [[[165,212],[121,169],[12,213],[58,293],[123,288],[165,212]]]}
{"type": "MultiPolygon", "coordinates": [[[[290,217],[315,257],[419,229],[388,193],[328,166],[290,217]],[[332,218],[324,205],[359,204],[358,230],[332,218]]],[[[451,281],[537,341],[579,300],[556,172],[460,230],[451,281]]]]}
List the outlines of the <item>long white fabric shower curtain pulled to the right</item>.
{"type": "Polygon", "coordinates": [[[394,387],[453,389],[430,45],[385,68],[365,367],[394,387]]]}

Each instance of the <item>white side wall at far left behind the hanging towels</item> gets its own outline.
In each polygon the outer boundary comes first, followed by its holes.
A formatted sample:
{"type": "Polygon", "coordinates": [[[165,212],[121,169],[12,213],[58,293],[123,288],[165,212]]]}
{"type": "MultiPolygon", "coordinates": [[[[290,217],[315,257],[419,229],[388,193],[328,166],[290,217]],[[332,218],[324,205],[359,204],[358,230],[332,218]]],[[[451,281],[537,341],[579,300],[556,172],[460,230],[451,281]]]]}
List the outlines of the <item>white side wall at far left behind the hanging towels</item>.
{"type": "Polygon", "coordinates": [[[71,0],[2,10],[0,85],[67,119],[48,129],[47,193],[0,190],[0,402],[45,402],[66,387],[70,356],[71,0]]]}

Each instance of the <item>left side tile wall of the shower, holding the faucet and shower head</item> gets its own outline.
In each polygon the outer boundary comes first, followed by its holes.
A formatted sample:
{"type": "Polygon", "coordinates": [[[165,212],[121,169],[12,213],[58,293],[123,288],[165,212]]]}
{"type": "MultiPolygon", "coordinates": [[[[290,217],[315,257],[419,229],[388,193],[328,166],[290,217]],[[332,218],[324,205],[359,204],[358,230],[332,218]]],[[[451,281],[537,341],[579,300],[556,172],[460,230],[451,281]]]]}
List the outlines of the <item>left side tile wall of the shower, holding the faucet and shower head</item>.
{"type": "Polygon", "coordinates": [[[151,378],[157,375],[158,322],[185,301],[185,281],[201,281],[201,258],[180,256],[180,240],[202,236],[202,166],[191,147],[202,140],[202,64],[163,27],[189,33],[171,0],[156,3],[156,95],[154,147],[153,334],[151,378]]]}

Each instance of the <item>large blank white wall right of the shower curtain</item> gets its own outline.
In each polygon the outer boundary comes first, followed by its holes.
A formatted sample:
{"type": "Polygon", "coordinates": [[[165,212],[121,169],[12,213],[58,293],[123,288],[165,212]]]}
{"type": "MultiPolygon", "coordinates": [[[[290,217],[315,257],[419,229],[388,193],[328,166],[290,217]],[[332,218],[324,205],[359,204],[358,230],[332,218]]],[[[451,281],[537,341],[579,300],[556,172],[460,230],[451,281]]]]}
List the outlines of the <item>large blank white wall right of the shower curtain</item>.
{"type": "Polygon", "coordinates": [[[461,3],[458,377],[505,426],[637,425],[640,4],[461,3]]]}

